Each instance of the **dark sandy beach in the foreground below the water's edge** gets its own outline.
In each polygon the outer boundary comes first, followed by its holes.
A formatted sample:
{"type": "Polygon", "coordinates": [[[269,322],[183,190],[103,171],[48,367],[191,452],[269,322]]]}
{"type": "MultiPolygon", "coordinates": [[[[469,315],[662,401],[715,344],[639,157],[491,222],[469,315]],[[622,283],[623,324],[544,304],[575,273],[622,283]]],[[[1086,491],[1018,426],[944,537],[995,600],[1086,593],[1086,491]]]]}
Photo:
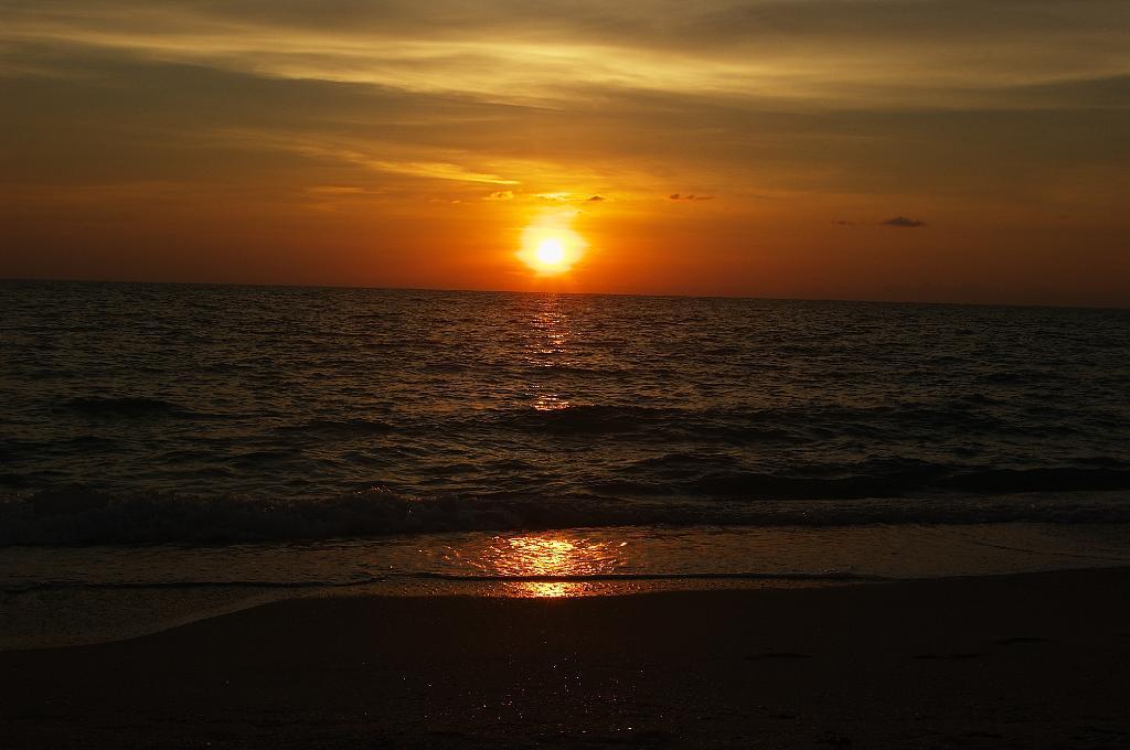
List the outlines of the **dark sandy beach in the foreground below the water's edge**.
{"type": "Polygon", "coordinates": [[[0,654],[6,748],[1130,748],[1130,569],[324,599],[0,654]]]}

